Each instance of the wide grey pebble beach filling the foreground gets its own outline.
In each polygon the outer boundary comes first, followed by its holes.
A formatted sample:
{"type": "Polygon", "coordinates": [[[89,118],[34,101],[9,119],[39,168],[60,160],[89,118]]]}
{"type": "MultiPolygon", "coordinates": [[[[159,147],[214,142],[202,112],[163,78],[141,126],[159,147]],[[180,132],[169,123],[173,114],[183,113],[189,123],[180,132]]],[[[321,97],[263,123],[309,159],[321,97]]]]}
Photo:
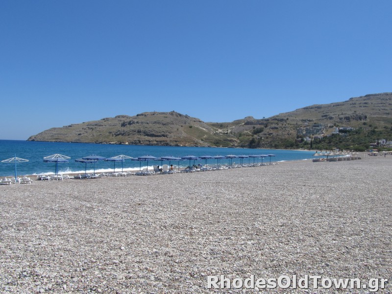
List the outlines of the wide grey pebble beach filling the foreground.
{"type": "MultiPolygon", "coordinates": [[[[0,292],[306,293],[210,290],[207,276],[390,279],[391,175],[392,156],[376,156],[0,186],[0,292]]],[[[319,287],[309,293],[336,291],[319,287]]]]}

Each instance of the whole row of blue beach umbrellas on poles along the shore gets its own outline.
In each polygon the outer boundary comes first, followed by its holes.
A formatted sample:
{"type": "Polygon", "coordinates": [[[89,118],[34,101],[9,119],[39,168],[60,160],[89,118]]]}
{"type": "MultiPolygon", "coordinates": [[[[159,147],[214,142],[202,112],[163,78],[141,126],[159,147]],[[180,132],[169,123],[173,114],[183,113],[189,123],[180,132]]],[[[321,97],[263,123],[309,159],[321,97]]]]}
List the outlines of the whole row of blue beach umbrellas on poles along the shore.
{"type": "MultiPolygon", "coordinates": [[[[123,172],[123,162],[126,159],[139,161],[140,162],[140,169],[141,169],[142,161],[146,161],[147,166],[148,166],[148,161],[151,161],[151,160],[162,161],[162,162],[165,160],[165,161],[169,161],[169,164],[171,163],[171,161],[178,161],[178,163],[179,163],[180,160],[189,160],[189,166],[191,166],[192,160],[194,161],[194,164],[195,164],[196,160],[203,160],[204,159],[205,164],[207,164],[208,159],[217,159],[218,166],[219,166],[221,159],[230,159],[230,165],[232,165],[233,158],[240,158],[241,165],[242,165],[244,158],[253,158],[253,163],[255,163],[255,158],[261,158],[262,163],[263,163],[263,158],[265,158],[265,157],[270,157],[270,162],[271,162],[272,156],[275,156],[275,155],[274,154],[258,154],[258,155],[233,155],[233,154],[229,154],[229,155],[224,155],[224,156],[223,155],[215,155],[215,156],[186,155],[186,156],[182,156],[182,157],[176,157],[176,156],[172,156],[172,155],[162,156],[162,157],[145,155],[145,156],[139,156],[139,157],[131,157],[131,156],[127,156],[127,155],[122,154],[122,155],[106,158],[106,157],[103,157],[100,155],[92,154],[89,156],[75,159],[75,162],[80,162],[80,163],[85,164],[85,173],[87,173],[87,164],[94,164],[94,173],[95,173],[95,163],[99,160],[113,161],[113,172],[116,171],[116,162],[121,162],[121,171],[123,172]]],[[[55,175],[57,175],[58,174],[58,164],[69,162],[69,159],[71,159],[71,157],[66,156],[66,155],[53,154],[53,155],[49,155],[49,156],[44,157],[44,162],[55,163],[55,175]]],[[[16,157],[16,154],[15,154],[15,157],[11,157],[11,158],[2,160],[1,162],[14,163],[14,165],[15,165],[15,179],[17,179],[16,164],[21,163],[21,162],[28,162],[28,159],[16,157]]]]}

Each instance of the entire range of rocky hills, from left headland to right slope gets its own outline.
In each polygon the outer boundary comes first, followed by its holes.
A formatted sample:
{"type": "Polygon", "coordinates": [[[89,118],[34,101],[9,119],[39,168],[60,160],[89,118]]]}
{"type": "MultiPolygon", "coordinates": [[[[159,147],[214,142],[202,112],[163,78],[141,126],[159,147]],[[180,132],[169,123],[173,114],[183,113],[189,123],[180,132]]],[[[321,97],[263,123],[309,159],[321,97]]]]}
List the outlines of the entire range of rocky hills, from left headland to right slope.
{"type": "MultiPolygon", "coordinates": [[[[352,127],[361,136],[391,136],[392,93],[371,94],[343,102],[315,104],[270,118],[246,117],[229,123],[204,123],[172,112],[119,115],[99,121],[51,128],[29,141],[160,146],[301,147],[298,129],[310,124],[352,127]]],[[[328,131],[328,130],[327,130],[328,131]]],[[[369,137],[368,140],[374,140],[369,137]]],[[[368,144],[368,142],[364,143],[368,144]]]]}

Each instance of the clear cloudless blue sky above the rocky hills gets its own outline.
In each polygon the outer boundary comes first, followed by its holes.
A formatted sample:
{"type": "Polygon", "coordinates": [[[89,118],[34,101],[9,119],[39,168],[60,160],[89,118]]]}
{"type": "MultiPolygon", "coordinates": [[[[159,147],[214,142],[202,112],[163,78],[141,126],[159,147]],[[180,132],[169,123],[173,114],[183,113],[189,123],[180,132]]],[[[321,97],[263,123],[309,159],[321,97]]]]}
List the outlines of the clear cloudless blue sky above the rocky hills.
{"type": "Polygon", "coordinates": [[[0,139],[147,111],[270,117],[392,92],[391,0],[1,0],[0,139]]]}

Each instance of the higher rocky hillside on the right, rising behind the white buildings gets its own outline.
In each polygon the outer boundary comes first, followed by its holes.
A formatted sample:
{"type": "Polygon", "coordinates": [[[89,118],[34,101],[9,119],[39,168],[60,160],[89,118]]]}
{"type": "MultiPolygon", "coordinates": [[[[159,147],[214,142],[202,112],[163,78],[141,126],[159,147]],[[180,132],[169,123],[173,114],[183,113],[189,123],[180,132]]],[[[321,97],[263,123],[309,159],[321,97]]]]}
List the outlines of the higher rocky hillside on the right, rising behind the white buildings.
{"type": "Polygon", "coordinates": [[[248,147],[288,148],[300,147],[293,146],[298,139],[297,131],[311,124],[323,124],[328,128],[353,127],[363,130],[363,136],[372,132],[374,136],[390,136],[392,140],[392,93],[314,104],[265,119],[247,117],[232,123],[210,125],[221,126],[221,132],[236,136],[240,146],[245,147],[248,143],[248,147]]]}

